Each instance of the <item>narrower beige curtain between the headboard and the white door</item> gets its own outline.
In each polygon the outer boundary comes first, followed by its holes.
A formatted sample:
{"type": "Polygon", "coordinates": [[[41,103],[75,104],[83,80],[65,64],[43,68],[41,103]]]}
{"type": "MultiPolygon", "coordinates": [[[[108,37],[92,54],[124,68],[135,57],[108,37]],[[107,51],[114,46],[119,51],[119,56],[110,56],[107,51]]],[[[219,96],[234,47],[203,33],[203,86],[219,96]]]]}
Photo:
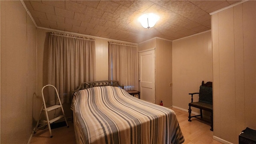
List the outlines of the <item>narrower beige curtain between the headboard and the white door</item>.
{"type": "Polygon", "coordinates": [[[108,42],[108,78],[118,80],[125,90],[138,90],[138,47],[108,42]]]}

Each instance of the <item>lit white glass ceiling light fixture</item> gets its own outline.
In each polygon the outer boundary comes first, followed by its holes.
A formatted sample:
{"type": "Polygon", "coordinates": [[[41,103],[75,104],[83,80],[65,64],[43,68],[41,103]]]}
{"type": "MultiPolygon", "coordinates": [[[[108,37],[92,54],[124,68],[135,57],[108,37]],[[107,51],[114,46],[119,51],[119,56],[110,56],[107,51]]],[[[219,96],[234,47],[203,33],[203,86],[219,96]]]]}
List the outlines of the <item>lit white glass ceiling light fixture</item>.
{"type": "Polygon", "coordinates": [[[155,26],[156,22],[159,20],[159,16],[153,13],[149,14],[143,14],[138,18],[140,24],[143,26],[143,28],[153,28],[155,26]]]}

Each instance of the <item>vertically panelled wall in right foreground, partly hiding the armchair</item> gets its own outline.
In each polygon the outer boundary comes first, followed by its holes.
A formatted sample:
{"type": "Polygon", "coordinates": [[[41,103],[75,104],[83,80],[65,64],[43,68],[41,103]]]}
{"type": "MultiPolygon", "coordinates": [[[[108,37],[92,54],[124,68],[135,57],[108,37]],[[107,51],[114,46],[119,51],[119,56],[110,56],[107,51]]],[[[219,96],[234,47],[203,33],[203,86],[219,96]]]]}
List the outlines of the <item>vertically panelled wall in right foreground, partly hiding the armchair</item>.
{"type": "Polygon", "coordinates": [[[256,129],[256,1],[212,15],[214,136],[256,129]]]}

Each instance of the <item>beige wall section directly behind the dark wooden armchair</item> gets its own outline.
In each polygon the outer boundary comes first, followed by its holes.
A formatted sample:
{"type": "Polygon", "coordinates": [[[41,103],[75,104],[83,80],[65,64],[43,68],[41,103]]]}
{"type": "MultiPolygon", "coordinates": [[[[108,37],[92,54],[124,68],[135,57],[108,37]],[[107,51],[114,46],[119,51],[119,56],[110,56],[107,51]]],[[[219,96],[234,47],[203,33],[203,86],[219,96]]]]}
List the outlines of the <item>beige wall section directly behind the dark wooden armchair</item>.
{"type": "MultiPolygon", "coordinates": [[[[212,82],[210,31],[172,42],[173,106],[187,110],[191,102],[188,93],[199,92],[202,80],[212,82]]],[[[194,95],[194,100],[198,100],[198,95],[194,95]]],[[[197,108],[192,111],[200,113],[197,108]]]]}

